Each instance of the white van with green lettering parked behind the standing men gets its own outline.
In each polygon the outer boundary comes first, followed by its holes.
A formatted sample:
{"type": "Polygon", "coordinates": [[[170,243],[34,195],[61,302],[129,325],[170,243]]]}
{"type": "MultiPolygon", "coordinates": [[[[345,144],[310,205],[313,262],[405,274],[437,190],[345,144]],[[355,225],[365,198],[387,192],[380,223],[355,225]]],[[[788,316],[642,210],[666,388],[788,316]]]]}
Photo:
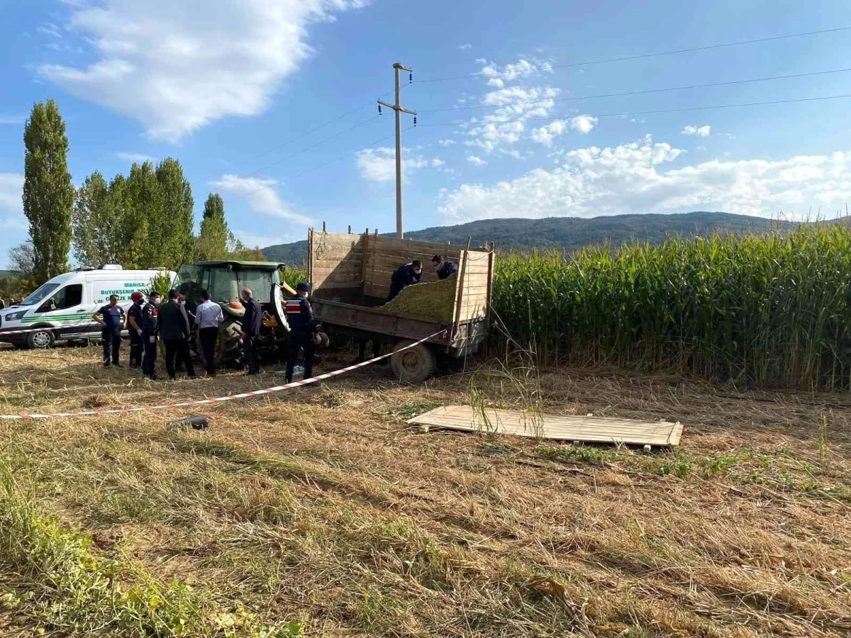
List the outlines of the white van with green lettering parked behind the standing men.
{"type": "MultiPolygon", "coordinates": [[[[126,311],[130,295],[151,288],[151,279],[163,271],[124,271],[120,265],[66,272],[44,282],[18,304],[0,310],[0,342],[16,347],[49,348],[56,341],[100,337],[92,315],[109,303],[111,294],[126,311]],[[6,334],[13,330],[30,333],[6,334]]],[[[174,282],[175,273],[168,271],[174,282]]],[[[126,334],[126,332],[125,332],[126,334]]]]}

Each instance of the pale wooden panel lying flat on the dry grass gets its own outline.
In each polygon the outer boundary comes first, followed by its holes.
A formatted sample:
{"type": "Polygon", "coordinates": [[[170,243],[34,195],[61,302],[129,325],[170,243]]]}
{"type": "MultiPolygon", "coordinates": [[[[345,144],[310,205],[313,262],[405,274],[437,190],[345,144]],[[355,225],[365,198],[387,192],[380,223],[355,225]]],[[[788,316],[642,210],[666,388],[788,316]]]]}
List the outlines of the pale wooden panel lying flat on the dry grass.
{"type": "Polygon", "coordinates": [[[588,443],[625,443],[657,447],[676,446],[683,436],[679,421],[643,421],[608,417],[559,416],[486,410],[488,420],[470,406],[436,407],[410,419],[408,424],[426,425],[446,430],[491,432],[512,436],[530,436],[554,441],[588,443]],[[489,422],[489,423],[488,423],[489,422]]]}

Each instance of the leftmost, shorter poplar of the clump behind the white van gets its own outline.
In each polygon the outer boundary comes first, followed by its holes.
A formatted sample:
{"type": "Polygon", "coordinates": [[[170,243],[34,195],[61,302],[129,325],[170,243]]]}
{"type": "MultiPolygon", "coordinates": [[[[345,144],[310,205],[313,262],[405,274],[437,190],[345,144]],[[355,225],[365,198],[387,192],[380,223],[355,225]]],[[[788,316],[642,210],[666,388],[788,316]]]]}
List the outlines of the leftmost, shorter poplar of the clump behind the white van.
{"type": "Polygon", "coordinates": [[[120,216],[114,213],[110,187],[95,171],[77,190],[72,228],[74,256],[80,265],[94,268],[100,264],[121,263],[120,216]]]}

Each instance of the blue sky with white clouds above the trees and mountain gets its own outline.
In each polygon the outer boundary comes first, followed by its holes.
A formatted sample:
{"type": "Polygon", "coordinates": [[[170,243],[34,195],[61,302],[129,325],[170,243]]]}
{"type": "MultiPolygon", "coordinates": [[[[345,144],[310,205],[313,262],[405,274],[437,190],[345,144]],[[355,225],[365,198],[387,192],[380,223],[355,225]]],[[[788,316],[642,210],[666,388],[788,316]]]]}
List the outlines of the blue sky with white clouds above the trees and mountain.
{"type": "Polygon", "coordinates": [[[219,192],[248,244],[301,239],[323,221],[392,231],[393,117],[374,117],[374,100],[391,101],[397,60],[414,69],[403,104],[420,111],[403,136],[408,230],[694,209],[832,216],[851,194],[851,98],[639,114],[851,94],[851,71],[840,71],[851,68],[851,31],[577,64],[851,26],[842,0],[0,8],[3,255],[26,239],[23,122],[51,97],[66,118],[75,185],[171,156],[197,216],[219,192]],[[840,72],[585,99],[820,71],[840,72]]]}

